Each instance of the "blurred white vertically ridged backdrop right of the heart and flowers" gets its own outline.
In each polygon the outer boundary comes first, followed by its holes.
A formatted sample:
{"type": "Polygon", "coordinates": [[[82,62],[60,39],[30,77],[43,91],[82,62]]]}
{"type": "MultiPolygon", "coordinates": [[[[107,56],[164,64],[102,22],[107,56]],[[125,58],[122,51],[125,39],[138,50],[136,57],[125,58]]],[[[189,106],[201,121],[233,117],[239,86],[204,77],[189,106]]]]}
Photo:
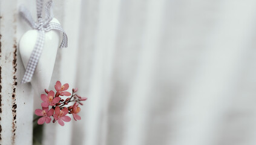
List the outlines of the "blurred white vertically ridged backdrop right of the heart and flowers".
{"type": "Polygon", "coordinates": [[[44,144],[256,143],[256,1],[54,2],[70,45],[52,81],[88,100],[44,144]]]}

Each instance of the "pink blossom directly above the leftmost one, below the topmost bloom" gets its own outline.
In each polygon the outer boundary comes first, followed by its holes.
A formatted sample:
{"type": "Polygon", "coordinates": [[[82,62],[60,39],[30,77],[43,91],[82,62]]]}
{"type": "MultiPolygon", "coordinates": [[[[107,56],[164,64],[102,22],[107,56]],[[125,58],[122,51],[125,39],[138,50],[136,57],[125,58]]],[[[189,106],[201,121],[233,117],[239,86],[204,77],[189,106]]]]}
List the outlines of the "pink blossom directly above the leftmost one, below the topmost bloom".
{"type": "Polygon", "coordinates": [[[58,103],[59,100],[61,100],[61,97],[55,97],[54,98],[54,92],[49,91],[47,96],[45,94],[42,94],[41,99],[42,99],[42,101],[44,101],[43,103],[41,103],[41,106],[43,108],[48,108],[49,105],[50,106],[56,105],[56,103],[58,103]]]}

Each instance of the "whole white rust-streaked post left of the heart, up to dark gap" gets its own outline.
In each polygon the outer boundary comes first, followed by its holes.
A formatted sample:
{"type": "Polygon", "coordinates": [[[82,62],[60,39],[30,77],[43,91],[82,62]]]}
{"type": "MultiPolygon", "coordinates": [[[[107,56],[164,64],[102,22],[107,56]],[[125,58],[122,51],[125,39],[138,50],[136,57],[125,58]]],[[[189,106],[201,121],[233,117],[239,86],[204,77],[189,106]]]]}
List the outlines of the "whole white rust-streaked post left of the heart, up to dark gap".
{"type": "Polygon", "coordinates": [[[2,140],[0,144],[7,145],[31,144],[33,126],[31,124],[33,120],[31,85],[19,83],[24,74],[24,68],[17,50],[18,37],[21,36],[22,30],[17,28],[18,15],[15,4],[18,4],[18,1],[0,1],[0,33],[2,36],[0,54],[2,140]]]}

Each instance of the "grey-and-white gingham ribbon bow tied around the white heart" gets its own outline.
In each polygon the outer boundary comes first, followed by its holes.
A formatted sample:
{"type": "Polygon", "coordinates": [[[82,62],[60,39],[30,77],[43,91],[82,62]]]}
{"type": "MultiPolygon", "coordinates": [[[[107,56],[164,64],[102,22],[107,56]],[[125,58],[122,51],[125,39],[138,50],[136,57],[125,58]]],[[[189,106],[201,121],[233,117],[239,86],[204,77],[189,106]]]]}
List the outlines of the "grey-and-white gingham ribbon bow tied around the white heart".
{"type": "Polygon", "coordinates": [[[38,13],[38,22],[34,22],[30,12],[25,7],[20,7],[19,13],[21,14],[22,18],[27,21],[27,23],[33,28],[38,30],[38,38],[36,40],[36,45],[34,45],[34,49],[31,53],[31,56],[28,60],[27,68],[25,71],[25,75],[21,81],[21,83],[30,82],[32,76],[34,74],[34,70],[36,69],[36,65],[38,65],[39,57],[42,53],[42,48],[44,47],[44,38],[45,32],[50,30],[59,30],[63,32],[63,39],[61,43],[62,47],[68,47],[68,37],[67,34],[62,29],[61,25],[50,22],[53,19],[53,13],[51,12],[51,4],[53,1],[48,1],[45,5],[45,19],[42,19],[42,8],[44,5],[44,0],[37,0],[36,1],[36,9],[38,13]]]}

